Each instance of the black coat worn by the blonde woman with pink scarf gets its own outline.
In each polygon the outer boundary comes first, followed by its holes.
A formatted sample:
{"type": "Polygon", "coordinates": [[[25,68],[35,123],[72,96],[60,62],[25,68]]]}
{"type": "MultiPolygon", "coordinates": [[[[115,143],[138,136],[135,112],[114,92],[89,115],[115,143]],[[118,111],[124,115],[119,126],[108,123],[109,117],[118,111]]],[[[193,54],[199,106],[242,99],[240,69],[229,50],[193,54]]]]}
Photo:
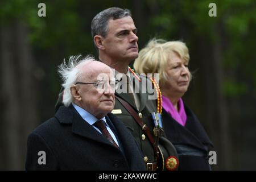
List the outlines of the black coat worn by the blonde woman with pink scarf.
{"type": "Polygon", "coordinates": [[[184,107],[187,114],[185,126],[175,121],[166,110],[162,112],[164,131],[179,155],[179,170],[210,170],[208,146],[213,144],[196,115],[187,105],[184,107]]]}

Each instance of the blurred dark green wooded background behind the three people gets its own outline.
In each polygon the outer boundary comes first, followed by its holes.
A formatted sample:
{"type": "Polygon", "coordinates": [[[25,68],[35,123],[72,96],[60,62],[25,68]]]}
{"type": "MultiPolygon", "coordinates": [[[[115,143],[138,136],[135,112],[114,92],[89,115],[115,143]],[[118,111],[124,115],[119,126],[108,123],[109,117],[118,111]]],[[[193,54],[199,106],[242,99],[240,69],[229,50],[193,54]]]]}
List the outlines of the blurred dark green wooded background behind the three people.
{"type": "Polygon", "coordinates": [[[139,48],[157,37],[183,40],[193,80],[184,101],[207,130],[218,170],[256,169],[256,2],[28,1],[0,2],[0,169],[23,170],[27,135],[53,117],[71,55],[97,57],[92,18],[108,7],[131,10],[139,48]],[[46,17],[38,4],[46,4],[46,17]],[[209,3],[217,5],[210,17],[209,3]]]}

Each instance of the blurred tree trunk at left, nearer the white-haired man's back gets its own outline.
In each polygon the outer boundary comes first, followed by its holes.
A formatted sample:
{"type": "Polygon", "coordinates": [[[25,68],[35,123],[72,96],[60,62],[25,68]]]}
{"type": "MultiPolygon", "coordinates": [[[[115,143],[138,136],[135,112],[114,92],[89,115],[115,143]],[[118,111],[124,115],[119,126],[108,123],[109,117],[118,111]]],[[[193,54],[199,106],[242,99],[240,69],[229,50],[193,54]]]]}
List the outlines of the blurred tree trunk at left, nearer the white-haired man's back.
{"type": "MultiPolygon", "coordinates": [[[[23,122],[20,123],[22,129],[20,143],[22,146],[27,145],[27,135],[31,133],[33,129],[39,123],[38,111],[36,107],[36,86],[34,78],[35,60],[32,58],[32,51],[30,44],[28,43],[28,28],[26,24],[18,22],[16,24],[16,35],[17,35],[17,53],[19,57],[19,68],[20,68],[20,92],[21,102],[20,110],[23,115],[23,122]],[[22,105],[26,104],[26,107],[22,105]]],[[[26,148],[25,148],[26,149],[26,148]]],[[[22,150],[23,155],[26,156],[26,150],[22,150]]],[[[26,158],[22,158],[25,160],[26,158]]]]}

